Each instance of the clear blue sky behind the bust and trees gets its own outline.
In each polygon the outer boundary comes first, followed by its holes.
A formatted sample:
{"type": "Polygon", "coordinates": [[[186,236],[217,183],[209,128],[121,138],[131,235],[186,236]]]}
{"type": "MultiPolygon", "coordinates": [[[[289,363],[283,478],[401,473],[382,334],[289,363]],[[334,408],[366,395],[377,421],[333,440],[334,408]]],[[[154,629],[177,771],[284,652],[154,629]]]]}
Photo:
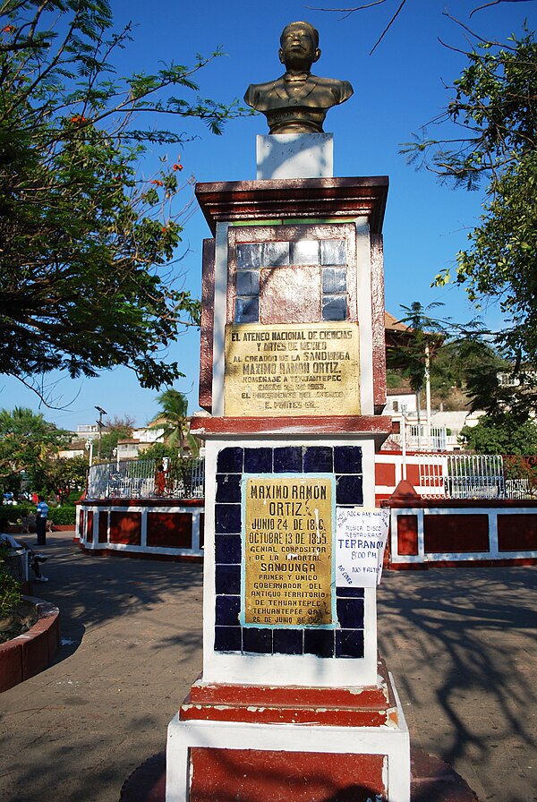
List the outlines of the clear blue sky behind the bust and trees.
{"type": "MultiPolygon", "coordinates": [[[[481,0],[483,2],[483,0],[481,0]]],[[[460,73],[468,49],[468,35],[443,11],[451,13],[482,37],[506,41],[520,33],[524,19],[531,30],[537,21],[537,2],[506,2],[473,14],[479,0],[407,0],[403,11],[373,55],[371,47],[396,11],[400,0],[342,19],[341,13],[315,10],[295,0],[270,4],[247,0],[205,0],[170,3],[169,0],[112,0],[120,26],[135,25],[131,46],[121,55],[118,72],[150,72],[158,62],[192,64],[195,55],[207,55],[221,46],[217,58],[198,76],[200,95],[228,102],[243,98],[248,84],[268,81],[282,73],[277,58],[278,39],[289,21],[311,21],[320,30],[320,61],[314,72],[351,81],[354,96],[328,113],[325,131],[334,134],[334,174],[337,176],[388,175],[390,189],[384,224],[386,306],[402,315],[400,305],[413,301],[442,302],[442,315],[469,320],[475,312],[456,287],[430,288],[439,269],[454,264],[456,251],[465,246],[468,231],[480,214],[481,192],[441,186],[430,173],[416,172],[399,154],[401,143],[412,140],[422,124],[446,104],[446,84],[460,73]],[[440,44],[439,38],[450,47],[440,44]],[[456,49],[453,49],[456,48],[456,49]]],[[[341,2],[321,0],[320,6],[337,8],[341,2]]],[[[171,121],[170,127],[195,137],[182,151],[183,176],[199,182],[255,178],[255,137],[266,133],[262,116],[237,119],[216,137],[196,121],[171,121]]],[[[429,127],[431,134],[434,126],[429,127]]],[[[175,149],[170,152],[174,156],[175,149]]],[[[142,169],[151,175],[156,154],[142,169]]],[[[186,200],[188,190],[184,192],[186,200]]],[[[181,200],[178,201],[179,203],[181,200]]],[[[185,286],[200,294],[201,243],[210,235],[199,209],[183,231],[185,286]]],[[[496,311],[489,311],[499,325],[496,311]]],[[[199,332],[192,329],[170,349],[186,378],[175,388],[189,398],[191,412],[198,408],[199,332]]],[[[57,376],[52,379],[58,379],[57,376]]],[[[46,383],[51,377],[45,379],[46,383]]],[[[51,390],[55,405],[41,407],[47,420],[66,429],[93,422],[95,405],[110,417],[131,415],[138,425],[157,414],[157,393],[141,389],[124,368],[106,371],[93,380],[60,380],[51,390]]],[[[30,406],[38,411],[38,398],[14,379],[0,377],[0,407],[30,406]]]]}

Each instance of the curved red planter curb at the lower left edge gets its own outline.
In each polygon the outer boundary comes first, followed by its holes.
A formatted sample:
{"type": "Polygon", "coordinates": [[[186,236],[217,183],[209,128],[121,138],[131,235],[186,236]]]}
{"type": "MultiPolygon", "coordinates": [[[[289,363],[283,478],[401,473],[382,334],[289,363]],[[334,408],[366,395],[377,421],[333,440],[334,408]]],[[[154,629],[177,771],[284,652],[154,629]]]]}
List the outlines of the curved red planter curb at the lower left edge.
{"type": "Polygon", "coordinates": [[[60,610],[36,596],[22,599],[37,608],[38,621],[28,632],[0,644],[0,693],[47,669],[60,648],[60,610]]]}

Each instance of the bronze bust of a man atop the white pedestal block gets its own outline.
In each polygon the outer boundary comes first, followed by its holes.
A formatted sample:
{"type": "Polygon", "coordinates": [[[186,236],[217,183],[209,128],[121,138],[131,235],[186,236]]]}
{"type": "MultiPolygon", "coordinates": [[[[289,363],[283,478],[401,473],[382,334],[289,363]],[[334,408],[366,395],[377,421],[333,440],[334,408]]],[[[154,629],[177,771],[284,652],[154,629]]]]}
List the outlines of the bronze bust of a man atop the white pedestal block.
{"type": "Polygon", "coordinates": [[[290,22],[280,37],[279,59],[286,73],[275,81],[252,83],[244,101],[267,117],[270,133],[322,133],[328,109],[351,97],[348,81],[319,78],[319,32],[309,22],[290,22]]]}

